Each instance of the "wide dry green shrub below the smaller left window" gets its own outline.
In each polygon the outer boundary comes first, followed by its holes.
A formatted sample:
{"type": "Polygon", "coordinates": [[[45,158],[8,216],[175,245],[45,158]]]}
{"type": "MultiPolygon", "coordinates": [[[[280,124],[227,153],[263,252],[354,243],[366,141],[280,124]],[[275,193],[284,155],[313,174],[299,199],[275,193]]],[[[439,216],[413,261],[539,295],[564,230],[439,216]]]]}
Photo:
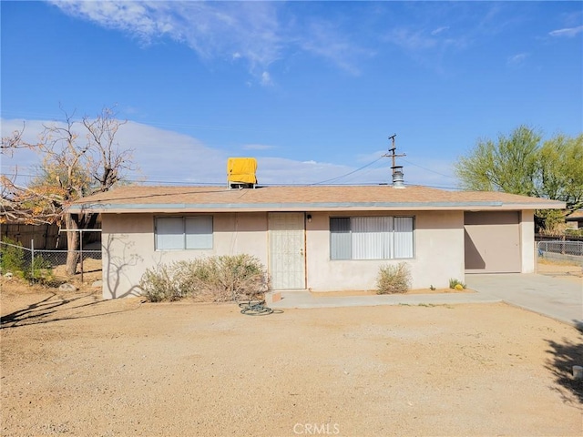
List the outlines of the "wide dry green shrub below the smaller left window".
{"type": "Polygon", "coordinates": [[[148,269],[140,280],[140,288],[153,302],[186,296],[224,302],[253,299],[267,290],[266,278],[259,259],[242,254],[179,261],[148,269]]]}

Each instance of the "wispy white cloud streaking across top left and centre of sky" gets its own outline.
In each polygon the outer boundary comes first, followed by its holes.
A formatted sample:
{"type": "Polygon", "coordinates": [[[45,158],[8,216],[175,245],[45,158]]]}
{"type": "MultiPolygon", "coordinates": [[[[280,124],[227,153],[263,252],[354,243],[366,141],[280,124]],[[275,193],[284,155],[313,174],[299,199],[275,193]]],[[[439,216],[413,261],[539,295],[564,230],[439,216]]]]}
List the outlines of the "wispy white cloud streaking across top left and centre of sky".
{"type": "MultiPolygon", "coordinates": [[[[67,15],[120,30],[142,44],[170,38],[189,46],[205,60],[244,59],[263,86],[271,86],[268,68],[298,48],[356,72],[363,55],[330,23],[302,25],[291,14],[282,18],[282,2],[199,1],[52,1],[67,15]]],[[[286,10],[286,12],[289,12],[286,10]]]]}

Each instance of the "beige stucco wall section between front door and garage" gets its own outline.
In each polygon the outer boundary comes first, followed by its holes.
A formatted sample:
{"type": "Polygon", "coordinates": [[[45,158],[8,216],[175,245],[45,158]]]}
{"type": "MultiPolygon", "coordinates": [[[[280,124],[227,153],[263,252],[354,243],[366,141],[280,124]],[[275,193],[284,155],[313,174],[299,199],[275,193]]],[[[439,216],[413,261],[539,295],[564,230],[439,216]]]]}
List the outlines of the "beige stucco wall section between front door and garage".
{"type": "MultiPolygon", "coordinates": [[[[334,213],[332,216],[372,214],[334,213]]],[[[383,214],[379,214],[383,215],[383,214]]],[[[386,213],[384,214],[386,215],[386,213]]],[[[307,287],[313,291],[373,290],[381,266],[406,262],[413,289],[447,287],[450,278],[464,280],[464,213],[412,211],[414,258],[392,260],[332,260],[328,213],[312,213],[306,223],[307,287]]]]}

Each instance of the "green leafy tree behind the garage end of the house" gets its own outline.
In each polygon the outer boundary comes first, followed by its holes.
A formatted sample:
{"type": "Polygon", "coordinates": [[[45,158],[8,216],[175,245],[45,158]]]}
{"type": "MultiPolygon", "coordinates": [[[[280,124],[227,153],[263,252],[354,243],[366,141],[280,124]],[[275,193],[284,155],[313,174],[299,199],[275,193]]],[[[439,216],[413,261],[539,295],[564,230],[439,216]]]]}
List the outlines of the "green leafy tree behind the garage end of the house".
{"type": "Polygon", "coordinates": [[[551,229],[583,207],[583,134],[556,135],[542,142],[532,127],[519,126],[497,140],[480,139],[455,163],[462,188],[504,191],[561,200],[567,211],[540,210],[537,226],[551,229]]]}

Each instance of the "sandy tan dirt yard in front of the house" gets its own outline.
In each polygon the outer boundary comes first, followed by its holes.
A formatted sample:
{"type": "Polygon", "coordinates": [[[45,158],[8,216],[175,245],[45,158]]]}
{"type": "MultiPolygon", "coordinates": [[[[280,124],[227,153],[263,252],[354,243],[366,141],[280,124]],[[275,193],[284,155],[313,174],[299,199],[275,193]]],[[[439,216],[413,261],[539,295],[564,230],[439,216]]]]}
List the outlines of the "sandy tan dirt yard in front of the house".
{"type": "Polygon", "coordinates": [[[2,282],[2,435],[581,435],[583,337],[505,304],[285,310],[2,282]]]}

